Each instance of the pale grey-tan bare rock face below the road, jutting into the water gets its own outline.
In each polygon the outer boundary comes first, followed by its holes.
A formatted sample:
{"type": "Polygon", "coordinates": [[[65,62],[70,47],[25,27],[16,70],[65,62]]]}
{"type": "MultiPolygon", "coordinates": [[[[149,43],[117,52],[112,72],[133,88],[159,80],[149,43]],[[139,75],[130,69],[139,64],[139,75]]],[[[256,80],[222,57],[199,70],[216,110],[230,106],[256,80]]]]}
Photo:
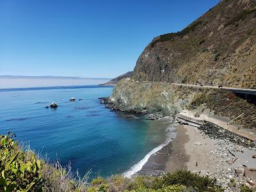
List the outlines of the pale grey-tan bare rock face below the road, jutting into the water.
{"type": "Polygon", "coordinates": [[[109,98],[110,108],[132,113],[157,113],[173,116],[186,108],[196,92],[170,83],[145,83],[123,79],[109,98]]]}

